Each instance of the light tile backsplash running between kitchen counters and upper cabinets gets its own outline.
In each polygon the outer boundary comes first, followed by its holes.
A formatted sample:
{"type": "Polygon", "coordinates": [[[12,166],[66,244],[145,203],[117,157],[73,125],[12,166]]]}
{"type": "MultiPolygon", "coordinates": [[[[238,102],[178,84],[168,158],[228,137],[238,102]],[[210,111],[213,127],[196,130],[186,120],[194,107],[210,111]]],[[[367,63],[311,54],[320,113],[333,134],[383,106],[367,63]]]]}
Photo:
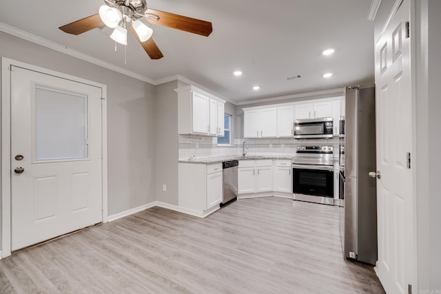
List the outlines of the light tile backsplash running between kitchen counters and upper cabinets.
{"type": "Polygon", "coordinates": [[[234,139],[232,146],[218,146],[217,138],[179,135],[179,159],[242,155],[244,140],[248,155],[295,156],[298,145],[331,145],[338,157],[338,137],[331,139],[254,138],[234,139]]]}

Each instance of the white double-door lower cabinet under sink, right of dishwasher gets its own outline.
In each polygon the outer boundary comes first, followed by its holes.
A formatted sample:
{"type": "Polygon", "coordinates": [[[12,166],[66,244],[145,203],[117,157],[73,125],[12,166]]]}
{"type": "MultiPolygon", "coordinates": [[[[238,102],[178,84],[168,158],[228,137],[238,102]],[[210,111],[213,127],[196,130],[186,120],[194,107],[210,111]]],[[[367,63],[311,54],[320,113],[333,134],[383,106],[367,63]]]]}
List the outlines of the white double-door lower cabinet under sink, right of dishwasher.
{"type": "Polygon", "coordinates": [[[239,160],[238,194],[273,191],[273,160],[239,160]]]}

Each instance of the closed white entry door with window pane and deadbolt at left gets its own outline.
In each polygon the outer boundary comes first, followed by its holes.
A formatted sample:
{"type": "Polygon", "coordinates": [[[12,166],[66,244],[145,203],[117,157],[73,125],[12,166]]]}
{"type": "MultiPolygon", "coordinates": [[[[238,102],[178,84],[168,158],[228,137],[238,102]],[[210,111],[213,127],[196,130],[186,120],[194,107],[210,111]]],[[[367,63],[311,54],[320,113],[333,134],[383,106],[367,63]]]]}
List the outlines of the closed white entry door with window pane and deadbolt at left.
{"type": "Polygon", "coordinates": [[[101,88],[12,66],[11,249],[102,222],[101,88]]]}

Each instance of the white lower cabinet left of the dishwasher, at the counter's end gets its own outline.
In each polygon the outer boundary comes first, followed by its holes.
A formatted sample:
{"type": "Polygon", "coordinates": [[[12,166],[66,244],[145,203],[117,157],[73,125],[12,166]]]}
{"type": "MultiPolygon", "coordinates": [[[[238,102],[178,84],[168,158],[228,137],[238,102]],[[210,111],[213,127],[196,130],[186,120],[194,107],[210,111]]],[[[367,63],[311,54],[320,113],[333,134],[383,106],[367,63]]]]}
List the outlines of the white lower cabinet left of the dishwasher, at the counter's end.
{"type": "Polygon", "coordinates": [[[223,196],[222,163],[178,164],[178,207],[194,216],[219,209],[223,196]]]}

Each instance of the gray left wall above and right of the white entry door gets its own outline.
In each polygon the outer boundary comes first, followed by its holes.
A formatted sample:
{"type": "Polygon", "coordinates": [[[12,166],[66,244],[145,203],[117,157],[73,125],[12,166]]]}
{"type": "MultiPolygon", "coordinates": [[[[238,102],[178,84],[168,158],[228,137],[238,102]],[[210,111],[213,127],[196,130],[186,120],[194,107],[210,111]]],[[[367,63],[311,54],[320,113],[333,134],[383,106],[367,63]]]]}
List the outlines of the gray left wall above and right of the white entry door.
{"type": "Polygon", "coordinates": [[[107,85],[108,213],[155,200],[153,85],[4,32],[0,56],[107,85]]]}

